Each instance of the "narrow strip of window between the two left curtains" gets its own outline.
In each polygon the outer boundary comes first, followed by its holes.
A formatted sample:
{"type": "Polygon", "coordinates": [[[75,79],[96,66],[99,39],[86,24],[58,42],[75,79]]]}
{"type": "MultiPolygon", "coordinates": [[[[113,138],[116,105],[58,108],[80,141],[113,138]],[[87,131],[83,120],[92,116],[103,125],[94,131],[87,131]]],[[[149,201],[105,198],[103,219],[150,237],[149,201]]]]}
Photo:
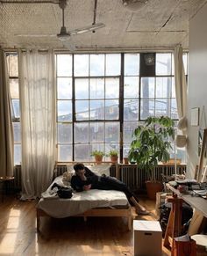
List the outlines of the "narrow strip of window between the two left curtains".
{"type": "Polygon", "coordinates": [[[7,53],[7,66],[9,71],[9,83],[11,92],[11,116],[14,130],[14,164],[21,163],[21,129],[20,106],[18,90],[18,54],[7,53]]]}

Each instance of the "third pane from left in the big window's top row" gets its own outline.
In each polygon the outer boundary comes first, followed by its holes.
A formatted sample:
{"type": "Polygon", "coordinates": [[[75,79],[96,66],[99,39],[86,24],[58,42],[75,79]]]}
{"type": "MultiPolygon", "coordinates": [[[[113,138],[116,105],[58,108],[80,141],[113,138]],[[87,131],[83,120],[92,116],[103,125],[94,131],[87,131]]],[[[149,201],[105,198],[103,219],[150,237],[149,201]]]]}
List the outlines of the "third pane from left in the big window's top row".
{"type": "Polygon", "coordinates": [[[104,55],[90,55],[90,76],[104,76],[104,55]]]}

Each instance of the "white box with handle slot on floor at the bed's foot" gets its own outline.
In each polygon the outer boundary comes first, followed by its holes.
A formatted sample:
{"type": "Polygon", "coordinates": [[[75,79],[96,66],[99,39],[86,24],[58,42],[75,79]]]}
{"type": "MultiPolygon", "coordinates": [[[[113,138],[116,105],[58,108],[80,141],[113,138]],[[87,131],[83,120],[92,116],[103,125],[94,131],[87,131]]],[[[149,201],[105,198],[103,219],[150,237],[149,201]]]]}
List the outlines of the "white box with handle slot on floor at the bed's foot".
{"type": "Polygon", "coordinates": [[[156,221],[133,221],[134,256],[162,255],[161,225],[156,221]]]}

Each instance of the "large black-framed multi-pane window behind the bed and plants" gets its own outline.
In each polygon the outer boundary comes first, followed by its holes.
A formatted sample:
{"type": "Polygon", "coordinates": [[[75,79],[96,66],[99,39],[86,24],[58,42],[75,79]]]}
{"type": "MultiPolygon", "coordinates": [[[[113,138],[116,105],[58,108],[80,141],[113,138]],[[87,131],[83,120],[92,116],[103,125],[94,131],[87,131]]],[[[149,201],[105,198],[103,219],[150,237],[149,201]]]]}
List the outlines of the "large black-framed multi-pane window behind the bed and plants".
{"type": "MultiPolygon", "coordinates": [[[[172,53],[56,58],[59,161],[89,161],[92,150],[116,149],[125,157],[133,129],[146,117],[177,120],[172,53]]],[[[187,70],[186,54],[183,61],[187,70]]]]}

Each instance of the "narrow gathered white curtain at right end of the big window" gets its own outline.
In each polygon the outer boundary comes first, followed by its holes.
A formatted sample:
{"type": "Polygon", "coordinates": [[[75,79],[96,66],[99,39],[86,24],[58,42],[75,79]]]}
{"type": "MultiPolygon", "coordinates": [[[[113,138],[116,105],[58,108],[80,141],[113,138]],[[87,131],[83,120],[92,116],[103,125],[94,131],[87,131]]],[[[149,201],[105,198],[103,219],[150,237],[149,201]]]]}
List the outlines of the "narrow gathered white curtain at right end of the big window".
{"type": "Polygon", "coordinates": [[[177,102],[177,111],[179,119],[186,114],[187,104],[187,85],[182,62],[182,46],[175,47],[174,52],[175,61],[175,94],[177,102]]]}

